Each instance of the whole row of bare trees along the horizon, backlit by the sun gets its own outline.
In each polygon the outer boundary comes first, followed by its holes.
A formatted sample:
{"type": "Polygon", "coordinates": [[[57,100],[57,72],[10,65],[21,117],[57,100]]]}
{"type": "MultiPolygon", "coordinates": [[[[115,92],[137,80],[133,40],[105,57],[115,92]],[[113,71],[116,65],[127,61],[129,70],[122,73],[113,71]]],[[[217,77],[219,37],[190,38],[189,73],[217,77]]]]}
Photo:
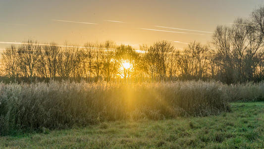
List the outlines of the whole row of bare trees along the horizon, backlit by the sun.
{"type": "Polygon", "coordinates": [[[225,83],[264,78],[264,7],[231,26],[216,27],[212,42],[191,42],[177,50],[169,41],[136,50],[113,41],[83,47],[28,40],[1,54],[2,75],[10,80],[104,80],[115,78],[214,79],[225,83]]]}

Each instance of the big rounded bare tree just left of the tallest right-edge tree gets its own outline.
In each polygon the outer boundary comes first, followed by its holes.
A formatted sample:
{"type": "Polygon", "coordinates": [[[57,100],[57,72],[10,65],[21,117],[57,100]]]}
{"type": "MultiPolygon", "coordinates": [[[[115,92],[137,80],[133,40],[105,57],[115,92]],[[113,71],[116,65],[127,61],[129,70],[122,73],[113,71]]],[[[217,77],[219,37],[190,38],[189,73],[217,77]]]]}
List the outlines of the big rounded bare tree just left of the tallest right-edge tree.
{"type": "Polygon", "coordinates": [[[217,64],[225,82],[243,82],[253,78],[263,55],[263,36],[252,23],[238,18],[231,27],[218,26],[213,40],[217,64]]]}

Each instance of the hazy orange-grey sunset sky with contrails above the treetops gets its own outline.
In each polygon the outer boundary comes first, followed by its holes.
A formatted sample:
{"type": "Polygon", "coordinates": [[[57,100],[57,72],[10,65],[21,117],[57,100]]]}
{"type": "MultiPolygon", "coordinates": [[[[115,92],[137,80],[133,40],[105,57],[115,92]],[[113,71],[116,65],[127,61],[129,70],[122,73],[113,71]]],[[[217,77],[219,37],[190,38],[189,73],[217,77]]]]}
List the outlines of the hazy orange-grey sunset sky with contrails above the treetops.
{"type": "Polygon", "coordinates": [[[10,42],[112,40],[138,48],[168,40],[210,43],[217,25],[247,18],[264,0],[0,0],[0,50],[10,42]]]}

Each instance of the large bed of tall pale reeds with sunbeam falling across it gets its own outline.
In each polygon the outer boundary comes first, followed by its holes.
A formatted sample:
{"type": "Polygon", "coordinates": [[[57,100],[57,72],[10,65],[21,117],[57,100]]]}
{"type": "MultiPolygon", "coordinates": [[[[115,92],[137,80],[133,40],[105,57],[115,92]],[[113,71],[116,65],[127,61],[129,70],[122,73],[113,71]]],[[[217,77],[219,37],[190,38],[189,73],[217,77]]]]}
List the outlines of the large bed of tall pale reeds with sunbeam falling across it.
{"type": "Polygon", "coordinates": [[[133,85],[2,83],[0,135],[102,121],[214,115],[229,111],[226,87],[203,81],[133,85]]]}

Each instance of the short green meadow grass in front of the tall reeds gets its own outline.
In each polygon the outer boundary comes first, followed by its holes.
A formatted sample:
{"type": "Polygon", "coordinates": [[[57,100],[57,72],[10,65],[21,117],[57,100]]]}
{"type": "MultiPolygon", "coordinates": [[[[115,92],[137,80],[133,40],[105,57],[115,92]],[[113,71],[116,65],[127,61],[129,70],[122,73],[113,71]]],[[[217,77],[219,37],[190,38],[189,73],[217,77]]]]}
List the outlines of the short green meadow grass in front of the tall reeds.
{"type": "Polygon", "coordinates": [[[0,137],[0,148],[264,148],[264,102],[232,103],[218,116],[116,121],[0,137]]]}

